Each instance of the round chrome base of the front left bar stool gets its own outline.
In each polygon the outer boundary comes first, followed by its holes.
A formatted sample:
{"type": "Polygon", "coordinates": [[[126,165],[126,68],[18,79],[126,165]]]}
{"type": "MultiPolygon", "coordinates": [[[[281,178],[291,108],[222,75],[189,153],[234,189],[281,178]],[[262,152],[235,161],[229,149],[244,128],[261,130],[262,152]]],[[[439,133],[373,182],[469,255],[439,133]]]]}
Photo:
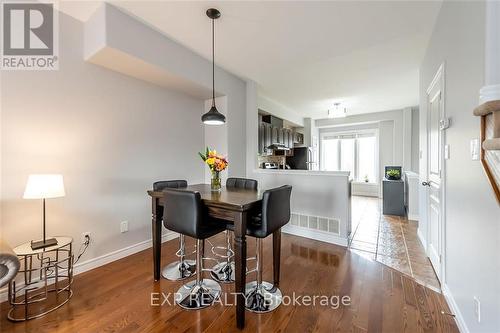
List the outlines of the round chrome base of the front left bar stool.
{"type": "Polygon", "coordinates": [[[214,280],[191,281],[177,290],[175,303],[186,310],[199,310],[211,306],[220,296],[221,287],[214,280]]]}

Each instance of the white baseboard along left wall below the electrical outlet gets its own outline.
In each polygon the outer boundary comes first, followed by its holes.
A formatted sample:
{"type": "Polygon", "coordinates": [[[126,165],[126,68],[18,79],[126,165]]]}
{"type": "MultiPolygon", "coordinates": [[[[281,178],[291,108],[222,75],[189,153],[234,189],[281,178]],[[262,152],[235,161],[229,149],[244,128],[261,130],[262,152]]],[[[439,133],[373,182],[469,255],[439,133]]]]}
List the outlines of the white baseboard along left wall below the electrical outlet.
{"type": "MultiPolygon", "coordinates": [[[[172,231],[167,231],[165,234],[162,235],[161,242],[162,243],[168,242],[169,240],[172,240],[172,239],[177,238],[177,237],[178,237],[177,233],[172,232],[172,231]]],[[[78,275],[78,274],[81,274],[83,272],[90,271],[94,268],[104,266],[106,264],[109,264],[110,262],[128,257],[134,253],[146,250],[152,246],[153,246],[152,240],[147,239],[147,240],[142,241],[140,243],[124,247],[123,249],[109,252],[109,253],[103,254],[102,256],[95,257],[95,258],[80,262],[73,267],[73,275],[78,275]]],[[[75,254],[75,256],[76,256],[76,254],[75,254]]],[[[23,286],[23,284],[18,284],[18,287],[22,287],[22,286],[23,286]]],[[[0,290],[0,303],[5,302],[5,301],[7,301],[7,288],[6,287],[2,288],[0,290]]]]}

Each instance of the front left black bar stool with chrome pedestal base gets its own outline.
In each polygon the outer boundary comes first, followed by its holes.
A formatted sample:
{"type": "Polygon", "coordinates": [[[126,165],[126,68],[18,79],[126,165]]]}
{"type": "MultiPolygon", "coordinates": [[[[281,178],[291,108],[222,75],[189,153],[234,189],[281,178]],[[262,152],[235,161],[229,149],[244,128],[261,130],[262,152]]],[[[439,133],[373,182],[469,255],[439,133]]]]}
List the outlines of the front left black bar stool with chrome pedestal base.
{"type": "Polygon", "coordinates": [[[175,302],[182,308],[190,310],[208,307],[220,296],[221,287],[212,279],[203,279],[205,239],[224,231],[226,227],[209,220],[199,192],[175,189],[165,189],[163,192],[165,227],[196,239],[196,280],[180,287],[175,302]]]}

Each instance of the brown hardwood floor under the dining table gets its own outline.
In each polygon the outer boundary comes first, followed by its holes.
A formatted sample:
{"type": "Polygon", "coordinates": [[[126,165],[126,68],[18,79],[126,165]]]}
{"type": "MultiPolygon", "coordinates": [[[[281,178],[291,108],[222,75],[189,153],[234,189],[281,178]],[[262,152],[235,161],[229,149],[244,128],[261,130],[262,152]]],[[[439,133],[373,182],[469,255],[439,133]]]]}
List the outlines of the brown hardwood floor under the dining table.
{"type": "MultiPolygon", "coordinates": [[[[215,241],[223,242],[221,235],[215,241]]],[[[193,241],[188,241],[192,246],[193,241]]],[[[174,260],[177,240],[163,244],[162,264],[174,260]]],[[[249,255],[254,253],[249,240],[249,255]]],[[[272,281],[272,239],[264,242],[264,280],[272,281]]],[[[253,267],[253,263],[249,264],[253,267]]],[[[152,249],[75,277],[74,296],[40,319],[12,323],[1,306],[2,332],[237,332],[235,309],[221,304],[185,311],[151,306],[151,293],[175,292],[181,282],[153,282],[152,249]]],[[[251,274],[248,280],[253,280],[251,274]]],[[[245,332],[458,332],[443,296],[376,261],[343,247],[283,234],[284,295],[349,296],[332,309],[316,304],[282,305],[257,315],[247,312],[245,332]]],[[[230,292],[232,285],[223,285],[230,292]]],[[[230,299],[229,299],[230,300],[230,299]]]]}

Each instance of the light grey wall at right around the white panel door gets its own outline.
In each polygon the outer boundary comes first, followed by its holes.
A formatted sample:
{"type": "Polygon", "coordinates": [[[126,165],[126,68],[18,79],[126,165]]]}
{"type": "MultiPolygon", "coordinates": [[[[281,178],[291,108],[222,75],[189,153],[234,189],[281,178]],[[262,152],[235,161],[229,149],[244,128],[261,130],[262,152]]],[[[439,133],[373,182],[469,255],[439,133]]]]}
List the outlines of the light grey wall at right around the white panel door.
{"type": "MultiPolygon", "coordinates": [[[[485,6],[483,2],[445,1],[420,69],[420,175],[427,172],[425,91],[445,63],[446,130],[446,281],[458,319],[470,332],[500,331],[500,207],[479,161],[470,158],[470,140],[479,137],[472,115],[484,84],[485,6]],[[473,297],[481,301],[481,323],[473,297]]],[[[425,202],[421,188],[420,202],[425,202]]],[[[426,235],[421,205],[420,233],[426,235]]]]}

